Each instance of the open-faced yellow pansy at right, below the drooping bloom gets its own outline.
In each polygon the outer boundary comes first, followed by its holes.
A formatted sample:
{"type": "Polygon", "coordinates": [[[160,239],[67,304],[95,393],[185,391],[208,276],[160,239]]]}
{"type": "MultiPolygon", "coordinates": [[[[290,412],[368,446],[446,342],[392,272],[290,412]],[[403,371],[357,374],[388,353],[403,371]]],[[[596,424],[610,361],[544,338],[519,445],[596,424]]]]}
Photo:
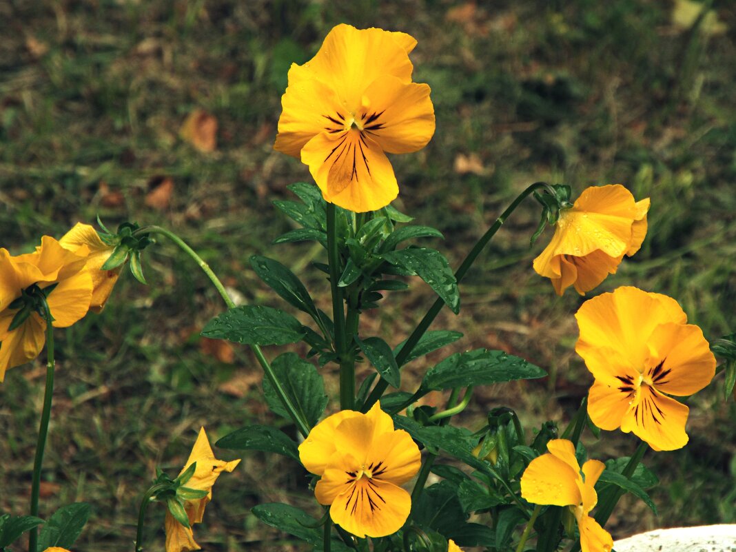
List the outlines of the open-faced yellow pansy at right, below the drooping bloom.
{"type": "Polygon", "coordinates": [[[684,397],[710,383],[715,357],[670,297],[621,287],[583,303],[575,350],[595,378],[588,414],[599,428],[632,432],[654,450],[687,443],[684,397]],[[666,393],[666,394],[665,394],[666,393]]]}

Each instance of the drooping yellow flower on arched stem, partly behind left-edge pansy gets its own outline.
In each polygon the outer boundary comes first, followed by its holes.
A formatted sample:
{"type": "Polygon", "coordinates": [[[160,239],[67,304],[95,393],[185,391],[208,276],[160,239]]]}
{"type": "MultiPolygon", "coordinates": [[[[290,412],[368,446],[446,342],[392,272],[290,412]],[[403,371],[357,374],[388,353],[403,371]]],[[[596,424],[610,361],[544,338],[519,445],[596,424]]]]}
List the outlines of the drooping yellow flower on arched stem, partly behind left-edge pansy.
{"type": "Polygon", "coordinates": [[[100,270],[105,261],[110,258],[115,247],[105,244],[94,227],[82,224],[82,222],[74,224],[74,227],[62,236],[59,243],[74,252],[82,251],[83,247],[87,247],[87,268],[90,271],[93,285],[90,310],[99,313],[105,307],[105,302],[110,297],[122,269],[122,266],[118,266],[113,270],[100,270]]]}

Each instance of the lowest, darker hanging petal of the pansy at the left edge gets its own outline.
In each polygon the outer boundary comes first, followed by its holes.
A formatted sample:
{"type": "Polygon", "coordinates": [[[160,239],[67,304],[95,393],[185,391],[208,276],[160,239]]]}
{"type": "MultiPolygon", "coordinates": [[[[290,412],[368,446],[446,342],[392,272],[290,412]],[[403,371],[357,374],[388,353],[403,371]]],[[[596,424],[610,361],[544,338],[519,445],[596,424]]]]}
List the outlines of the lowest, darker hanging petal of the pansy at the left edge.
{"type": "Polygon", "coordinates": [[[15,311],[0,316],[0,381],[7,369],[15,368],[36,358],[46,343],[46,322],[32,313],[21,326],[8,331],[15,311]]]}

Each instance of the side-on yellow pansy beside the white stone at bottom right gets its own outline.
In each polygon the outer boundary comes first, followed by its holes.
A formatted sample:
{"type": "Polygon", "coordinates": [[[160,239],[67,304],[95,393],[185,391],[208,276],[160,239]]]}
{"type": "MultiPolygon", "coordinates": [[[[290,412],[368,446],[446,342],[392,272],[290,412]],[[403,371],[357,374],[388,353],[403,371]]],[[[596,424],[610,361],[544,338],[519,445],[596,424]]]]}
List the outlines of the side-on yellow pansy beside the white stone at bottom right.
{"type": "Polygon", "coordinates": [[[583,552],[610,552],[611,535],[590,517],[598,502],[595,482],[605,465],[588,460],[582,470],[575,457],[575,447],[567,439],[552,439],[547,443],[549,453],[530,462],[521,476],[521,496],[533,504],[570,506],[580,530],[583,552]]]}

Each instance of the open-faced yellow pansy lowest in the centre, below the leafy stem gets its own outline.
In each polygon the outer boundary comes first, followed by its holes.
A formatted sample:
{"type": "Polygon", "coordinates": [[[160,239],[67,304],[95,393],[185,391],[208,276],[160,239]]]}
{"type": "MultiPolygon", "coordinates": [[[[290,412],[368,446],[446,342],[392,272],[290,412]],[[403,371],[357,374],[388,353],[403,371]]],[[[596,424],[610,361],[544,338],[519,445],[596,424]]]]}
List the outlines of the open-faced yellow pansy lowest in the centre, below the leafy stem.
{"type": "Polygon", "coordinates": [[[299,447],[304,467],[321,475],[314,494],[333,522],[356,537],[385,537],[403,526],[411,498],[399,485],[420,468],[419,447],[375,403],[315,425],[299,447]]]}

